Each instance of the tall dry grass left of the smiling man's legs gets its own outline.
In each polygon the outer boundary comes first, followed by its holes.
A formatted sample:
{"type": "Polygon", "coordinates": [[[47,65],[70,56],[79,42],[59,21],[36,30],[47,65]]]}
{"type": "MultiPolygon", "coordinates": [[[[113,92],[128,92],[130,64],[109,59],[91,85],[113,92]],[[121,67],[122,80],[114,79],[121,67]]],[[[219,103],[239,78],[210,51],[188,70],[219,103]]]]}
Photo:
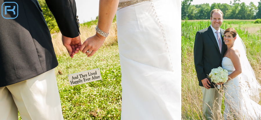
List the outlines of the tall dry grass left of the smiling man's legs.
{"type": "Polygon", "coordinates": [[[201,119],[202,93],[198,86],[193,53],[186,53],[182,60],[181,106],[182,119],[201,119]]]}

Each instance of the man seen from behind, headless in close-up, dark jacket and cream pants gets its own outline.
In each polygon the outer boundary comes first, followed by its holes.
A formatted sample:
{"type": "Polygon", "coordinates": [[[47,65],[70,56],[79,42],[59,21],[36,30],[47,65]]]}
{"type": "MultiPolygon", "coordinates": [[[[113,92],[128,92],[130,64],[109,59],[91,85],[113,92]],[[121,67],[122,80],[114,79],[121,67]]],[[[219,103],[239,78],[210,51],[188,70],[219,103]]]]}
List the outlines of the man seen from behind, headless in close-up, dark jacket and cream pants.
{"type": "MultiPolygon", "coordinates": [[[[79,51],[74,0],[46,0],[71,57],[79,51]]],[[[58,62],[37,0],[0,0],[0,116],[62,120],[55,78],[58,62]]]]}

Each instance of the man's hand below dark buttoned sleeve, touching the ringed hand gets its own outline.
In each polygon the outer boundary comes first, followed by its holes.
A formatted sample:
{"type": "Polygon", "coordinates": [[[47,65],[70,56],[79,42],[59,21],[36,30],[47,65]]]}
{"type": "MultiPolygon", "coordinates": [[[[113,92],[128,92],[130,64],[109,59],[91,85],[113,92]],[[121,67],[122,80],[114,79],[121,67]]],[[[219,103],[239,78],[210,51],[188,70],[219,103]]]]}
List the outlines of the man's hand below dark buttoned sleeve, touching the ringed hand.
{"type": "Polygon", "coordinates": [[[73,58],[73,55],[75,55],[75,53],[78,53],[81,47],[80,35],[75,38],[65,37],[64,35],[62,35],[62,41],[70,57],[73,58]]]}

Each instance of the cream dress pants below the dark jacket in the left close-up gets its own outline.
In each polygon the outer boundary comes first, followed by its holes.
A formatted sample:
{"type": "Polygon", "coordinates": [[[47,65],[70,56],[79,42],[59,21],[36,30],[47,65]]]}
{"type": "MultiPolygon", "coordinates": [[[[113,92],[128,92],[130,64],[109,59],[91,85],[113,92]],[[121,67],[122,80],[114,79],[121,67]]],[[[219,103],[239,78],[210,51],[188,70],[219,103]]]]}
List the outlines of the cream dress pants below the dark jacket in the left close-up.
{"type": "Polygon", "coordinates": [[[55,69],[0,87],[1,120],[63,120],[55,69]]]}

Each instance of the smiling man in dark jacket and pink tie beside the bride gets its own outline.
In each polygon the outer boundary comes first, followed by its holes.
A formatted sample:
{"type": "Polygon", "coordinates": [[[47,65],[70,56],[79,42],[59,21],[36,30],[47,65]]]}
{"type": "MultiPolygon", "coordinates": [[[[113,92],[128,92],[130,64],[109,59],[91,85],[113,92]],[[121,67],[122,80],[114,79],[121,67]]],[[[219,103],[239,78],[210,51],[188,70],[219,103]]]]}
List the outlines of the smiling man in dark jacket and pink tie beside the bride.
{"type": "Polygon", "coordinates": [[[215,89],[215,83],[208,78],[211,69],[221,66],[222,57],[227,50],[222,35],[224,29],[220,26],[223,22],[223,13],[214,9],[210,13],[211,25],[196,33],[194,44],[194,63],[199,86],[203,94],[203,114],[208,119],[221,117],[222,94],[215,89]]]}

